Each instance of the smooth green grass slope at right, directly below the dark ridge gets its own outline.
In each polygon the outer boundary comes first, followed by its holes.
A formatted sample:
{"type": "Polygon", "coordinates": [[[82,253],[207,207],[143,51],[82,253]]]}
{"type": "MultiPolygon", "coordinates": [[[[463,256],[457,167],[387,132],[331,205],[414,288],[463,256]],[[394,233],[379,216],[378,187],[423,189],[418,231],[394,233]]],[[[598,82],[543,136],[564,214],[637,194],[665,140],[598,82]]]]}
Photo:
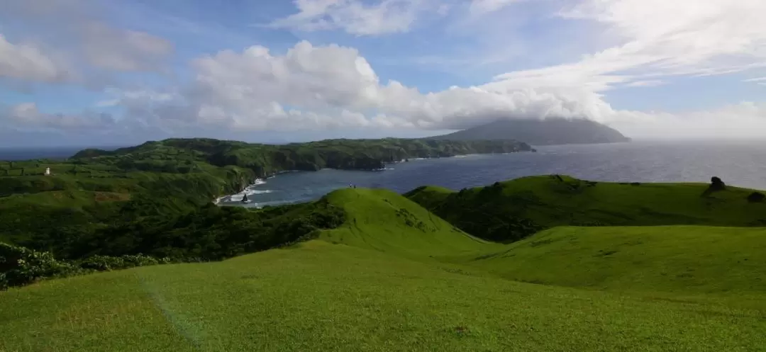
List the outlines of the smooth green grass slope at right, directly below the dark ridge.
{"type": "Polygon", "coordinates": [[[466,263],[545,285],[763,295],[766,229],[556,227],[466,263]]]}

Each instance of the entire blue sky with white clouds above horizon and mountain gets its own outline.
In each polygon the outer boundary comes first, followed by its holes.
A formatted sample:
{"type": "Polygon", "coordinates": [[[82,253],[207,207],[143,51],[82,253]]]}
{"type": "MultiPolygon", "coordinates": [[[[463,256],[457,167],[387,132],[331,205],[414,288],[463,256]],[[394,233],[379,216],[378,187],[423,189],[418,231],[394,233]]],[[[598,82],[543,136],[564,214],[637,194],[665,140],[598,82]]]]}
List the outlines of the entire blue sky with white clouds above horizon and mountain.
{"type": "Polygon", "coordinates": [[[763,0],[0,0],[0,147],[766,137],[763,0]]]}

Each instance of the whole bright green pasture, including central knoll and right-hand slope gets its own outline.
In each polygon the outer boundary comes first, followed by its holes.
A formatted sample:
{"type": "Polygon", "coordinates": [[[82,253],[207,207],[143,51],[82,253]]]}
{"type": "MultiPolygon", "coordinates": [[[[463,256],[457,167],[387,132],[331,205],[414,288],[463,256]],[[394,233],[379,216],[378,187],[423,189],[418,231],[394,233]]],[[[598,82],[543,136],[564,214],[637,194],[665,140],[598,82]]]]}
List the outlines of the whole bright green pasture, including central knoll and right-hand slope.
{"type": "Polygon", "coordinates": [[[393,192],[328,200],[346,223],[319,240],[0,292],[0,351],[766,350],[764,230],[499,245],[393,192]]]}

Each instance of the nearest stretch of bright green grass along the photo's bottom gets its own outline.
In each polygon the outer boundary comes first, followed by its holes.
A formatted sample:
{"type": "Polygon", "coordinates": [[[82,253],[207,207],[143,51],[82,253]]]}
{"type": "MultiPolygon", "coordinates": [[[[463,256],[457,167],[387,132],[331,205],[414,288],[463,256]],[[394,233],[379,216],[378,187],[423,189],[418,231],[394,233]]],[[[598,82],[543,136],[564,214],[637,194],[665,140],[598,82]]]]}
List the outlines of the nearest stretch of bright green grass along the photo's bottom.
{"type": "Polygon", "coordinates": [[[766,349],[764,314],[311,241],[0,292],[0,350],[752,351],[766,349]]]}

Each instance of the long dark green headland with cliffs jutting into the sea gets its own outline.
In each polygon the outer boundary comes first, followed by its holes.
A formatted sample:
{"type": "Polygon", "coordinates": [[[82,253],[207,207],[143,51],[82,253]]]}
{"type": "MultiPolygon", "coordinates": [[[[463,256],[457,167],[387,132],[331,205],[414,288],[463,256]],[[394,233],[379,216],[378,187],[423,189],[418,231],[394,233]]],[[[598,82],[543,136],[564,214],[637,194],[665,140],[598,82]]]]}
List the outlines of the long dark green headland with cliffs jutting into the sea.
{"type": "Polygon", "coordinates": [[[427,139],[327,139],[318,142],[266,145],[218,139],[165,139],[113,151],[85,149],[72,159],[116,165],[123,170],[191,171],[195,162],[236,166],[266,177],[280,171],[378,170],[408,158],[444,158],[468,154],[530,152],[525,142],[436,141],[427,139]]]}

